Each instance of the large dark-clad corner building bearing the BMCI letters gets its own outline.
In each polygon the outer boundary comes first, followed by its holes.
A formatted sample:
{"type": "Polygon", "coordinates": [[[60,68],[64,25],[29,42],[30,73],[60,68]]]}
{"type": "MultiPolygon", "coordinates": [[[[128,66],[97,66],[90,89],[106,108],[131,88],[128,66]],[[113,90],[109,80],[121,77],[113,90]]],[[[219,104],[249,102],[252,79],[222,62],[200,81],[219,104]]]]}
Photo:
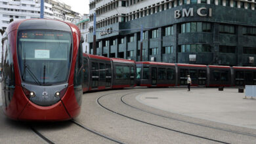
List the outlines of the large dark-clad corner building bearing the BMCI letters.
{"type": "Polygon", "coordinates": [[[89,46],[143,61],[256,66],[255,0],[90,0],[89,46]]]}

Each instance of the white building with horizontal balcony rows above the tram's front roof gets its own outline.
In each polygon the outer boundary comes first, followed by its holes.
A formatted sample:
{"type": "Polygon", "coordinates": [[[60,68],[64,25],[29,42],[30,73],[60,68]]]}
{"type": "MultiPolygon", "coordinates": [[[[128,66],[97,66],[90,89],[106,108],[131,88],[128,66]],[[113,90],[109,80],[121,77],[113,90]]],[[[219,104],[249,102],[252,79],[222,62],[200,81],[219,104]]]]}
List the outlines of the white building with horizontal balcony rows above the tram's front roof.
{"type": "MultiPolygon", "coordinates": [[[[52,6],[45,3],[45,18],[53,19],[52,6]]],[[[0,0],[0,29],[6,29],[10,20],[40,18],[40,1],[0,0]]]]}

